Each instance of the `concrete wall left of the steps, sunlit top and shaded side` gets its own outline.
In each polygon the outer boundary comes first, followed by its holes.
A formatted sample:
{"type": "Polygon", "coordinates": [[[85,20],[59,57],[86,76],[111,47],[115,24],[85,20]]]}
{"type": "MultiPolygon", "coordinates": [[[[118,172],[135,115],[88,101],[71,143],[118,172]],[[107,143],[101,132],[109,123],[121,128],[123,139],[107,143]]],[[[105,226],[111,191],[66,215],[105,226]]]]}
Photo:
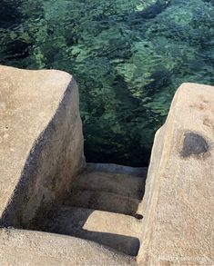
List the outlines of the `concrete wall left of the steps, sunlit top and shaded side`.
{"type": "Polygon", "coordinates": [[[0,66],[0,217],[24,226],[62,202],[84,164],[78,90],[71,75],[0,66]]]}

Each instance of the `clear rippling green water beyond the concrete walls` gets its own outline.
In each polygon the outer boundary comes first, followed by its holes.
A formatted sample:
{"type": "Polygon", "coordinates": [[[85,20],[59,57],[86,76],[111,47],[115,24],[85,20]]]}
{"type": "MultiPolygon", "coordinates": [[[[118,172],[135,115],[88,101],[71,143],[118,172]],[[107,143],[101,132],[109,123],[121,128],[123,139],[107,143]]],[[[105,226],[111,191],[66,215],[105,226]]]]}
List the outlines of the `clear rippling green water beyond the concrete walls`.
{"type": "Polygon", "coordinates": [[[178,85],[214,83],[214,1],[1,0],[0,64],[74,74],[87,161],[146,165],[178,85]]]}

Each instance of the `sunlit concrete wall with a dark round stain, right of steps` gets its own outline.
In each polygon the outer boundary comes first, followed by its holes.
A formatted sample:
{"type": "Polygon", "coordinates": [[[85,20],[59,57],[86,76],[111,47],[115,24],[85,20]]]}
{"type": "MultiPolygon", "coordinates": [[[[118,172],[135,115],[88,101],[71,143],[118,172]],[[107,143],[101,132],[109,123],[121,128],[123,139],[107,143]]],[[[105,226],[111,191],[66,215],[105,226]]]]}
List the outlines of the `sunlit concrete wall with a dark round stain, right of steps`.
{"type": "Polygon", "coordinates": [[[158,131],[139,265],[214,265],[214,87],[182,84],[158,131]]]}

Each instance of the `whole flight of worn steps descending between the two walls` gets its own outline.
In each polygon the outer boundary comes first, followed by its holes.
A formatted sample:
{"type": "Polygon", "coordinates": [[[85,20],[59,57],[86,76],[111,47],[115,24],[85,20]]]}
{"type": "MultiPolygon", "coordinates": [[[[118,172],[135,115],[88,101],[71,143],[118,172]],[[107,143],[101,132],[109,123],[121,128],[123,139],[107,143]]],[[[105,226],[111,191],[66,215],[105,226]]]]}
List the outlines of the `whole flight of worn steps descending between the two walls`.
{"type": "Polygon", "coordinates": [[[137,256],[143,219],[137,211],[146,176],[147,168],[88,163],[74,179],[66,201],[40,212],[36,229],[96,241],[137,256]]]}

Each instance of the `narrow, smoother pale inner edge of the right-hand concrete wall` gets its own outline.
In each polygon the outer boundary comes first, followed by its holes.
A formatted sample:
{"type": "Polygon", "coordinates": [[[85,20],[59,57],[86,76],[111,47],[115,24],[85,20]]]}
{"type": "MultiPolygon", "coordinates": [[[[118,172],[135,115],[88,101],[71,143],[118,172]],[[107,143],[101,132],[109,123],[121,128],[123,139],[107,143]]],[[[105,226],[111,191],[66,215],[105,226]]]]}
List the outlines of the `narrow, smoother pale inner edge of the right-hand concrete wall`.
{"type": "MultiPolygon", "coordinates": [[[[143,201],[140,203],[139,210],[144,213],[142,234],[140,239],[140,249],[138,251],[139,265],[148,265],[151,263],[152,253],[149,248],[150,237],[153,233],[153,223],[155,213],[157,212],[159,189],[164,182],[163,176],[166,172],[168,161],[171,160],[173,148],[173,138],[175,136],[176,123],[174,118],[178,116],[180,110],[177,107],[180,94],[183,93],[190,83],[181,84],[170,105],[166,122],[155,135],[153,143],[150,164],[148,167],[148,178],[146,181],[146,192],[143,201]]],[[[198,84],[199,86],[210,87],[209,85],[198,84]]],[[[188,90],[187,90],[188,92],[188,90]]],[[[182,202],[181,202],[182,204],[182,202]]],[[[162,265],[162,264],[161,264],[162,265]]],[[[165,264],[163,264],[165,265],[165,264]]],[[[167,265],[167,264],[166,264],[167,265]]]]}

